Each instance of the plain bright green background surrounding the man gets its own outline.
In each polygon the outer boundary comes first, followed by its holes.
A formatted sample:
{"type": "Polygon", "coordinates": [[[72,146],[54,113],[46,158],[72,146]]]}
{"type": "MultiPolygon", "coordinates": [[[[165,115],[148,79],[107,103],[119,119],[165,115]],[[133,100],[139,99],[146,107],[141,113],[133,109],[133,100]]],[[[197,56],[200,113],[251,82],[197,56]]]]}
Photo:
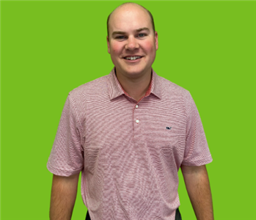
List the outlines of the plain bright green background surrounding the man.
{"type": "MultiPolygon", "coordinates": [[[[106,18],[125,1],[1,1],[1,219],[48,219],[46,169],[70,90],[109,74],[106,18]]],[[[256,219],[255,1],[134,1],[152,12],[153,69],[188,89],[213,162],[216,220],[256,219]]],[[[180,213],[194,220],[180,174],[180,213]]],[[[85,219],[80,184],[72,219],[85,219]]],[[[149,219],[151,220],[151,219],[149,219]]]]}

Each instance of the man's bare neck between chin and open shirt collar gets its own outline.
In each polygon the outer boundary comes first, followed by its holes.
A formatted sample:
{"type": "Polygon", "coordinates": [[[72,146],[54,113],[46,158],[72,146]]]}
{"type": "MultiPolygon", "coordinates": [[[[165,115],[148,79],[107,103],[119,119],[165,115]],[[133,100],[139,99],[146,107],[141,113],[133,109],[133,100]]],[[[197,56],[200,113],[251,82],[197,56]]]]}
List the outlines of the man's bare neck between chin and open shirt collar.
{"type": "Polygon", "coordinates": [[[116,71],[116,76],[122,89],[136,101],[144,97],[150,87],[151,69],[150,72],[136,78],[125,77],[122,74],[118,74],[118,71],[116,71]]]}

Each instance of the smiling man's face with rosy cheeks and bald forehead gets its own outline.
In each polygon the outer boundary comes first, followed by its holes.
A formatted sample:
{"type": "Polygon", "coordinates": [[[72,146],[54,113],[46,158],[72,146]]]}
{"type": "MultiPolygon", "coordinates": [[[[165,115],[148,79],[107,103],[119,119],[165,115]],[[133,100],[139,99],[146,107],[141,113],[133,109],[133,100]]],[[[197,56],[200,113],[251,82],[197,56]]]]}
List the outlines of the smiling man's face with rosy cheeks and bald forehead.
{"type": "Polygon", "coordinates": [[[115,10],[109,20],[107,43],[117,74],[131,78],[151,73],[158,34],[154,35],[150,15],[143,8],[125,5],[115,10]]]}

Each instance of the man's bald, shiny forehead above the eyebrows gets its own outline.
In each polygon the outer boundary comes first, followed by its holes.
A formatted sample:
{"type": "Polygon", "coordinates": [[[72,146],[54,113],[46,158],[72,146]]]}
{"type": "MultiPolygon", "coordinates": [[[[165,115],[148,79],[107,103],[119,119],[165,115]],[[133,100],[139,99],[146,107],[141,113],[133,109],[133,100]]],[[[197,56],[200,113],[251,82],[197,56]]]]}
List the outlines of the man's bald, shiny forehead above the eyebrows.
{"type": "Polygon", "coordinates": [[[109,31],[134,31],[147,27],[152,30],[150,15],[138,6],[128,5],[117,8],[109,19],[109,31]]]}

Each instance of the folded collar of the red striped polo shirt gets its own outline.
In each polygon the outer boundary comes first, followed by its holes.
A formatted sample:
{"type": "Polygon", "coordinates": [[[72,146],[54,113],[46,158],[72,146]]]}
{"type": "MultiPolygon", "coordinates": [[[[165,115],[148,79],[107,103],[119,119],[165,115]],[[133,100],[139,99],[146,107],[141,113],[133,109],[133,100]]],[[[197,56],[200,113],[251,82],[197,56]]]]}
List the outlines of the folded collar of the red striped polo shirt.
{"type": "MultiPolygon", "coordinates": [[[[152,68],[151,70],[152,70],[152,78],[151,78],[150,87],[149,87],[150,91],[146,92],[146,96],[148,92],[150,92],[153,95],[156,95],[157,98],[161,99],[160,78],[152,68]]],[[[109,98],[112,100],[114,98],[117,98],[120,95],[125,95],[125,93],[126,92],[122,89],[113,68],[109,73],[109,98]]],[[[150,95],[150,93],[148,95],[150,95]]]]}

